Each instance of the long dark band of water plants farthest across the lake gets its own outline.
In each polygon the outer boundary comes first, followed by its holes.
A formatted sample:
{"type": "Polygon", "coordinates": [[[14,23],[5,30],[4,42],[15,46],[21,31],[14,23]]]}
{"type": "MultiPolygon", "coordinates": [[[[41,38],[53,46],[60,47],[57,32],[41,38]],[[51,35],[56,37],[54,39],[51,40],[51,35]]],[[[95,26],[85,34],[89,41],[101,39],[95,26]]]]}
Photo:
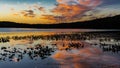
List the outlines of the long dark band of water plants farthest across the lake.
{"type": "Polygon", "coordinates": [[[12,36],[12,37],[0,37],[0,42],[6,43],[9,42],[10,39],[13,40],[91,40],[97,39],[102,41],[110,41],[114,39],[115,41],[120,40],[120,32],[75,32],[71,34],[54,34],[54,35],[27,35],[27,36],[12,36]]]}

